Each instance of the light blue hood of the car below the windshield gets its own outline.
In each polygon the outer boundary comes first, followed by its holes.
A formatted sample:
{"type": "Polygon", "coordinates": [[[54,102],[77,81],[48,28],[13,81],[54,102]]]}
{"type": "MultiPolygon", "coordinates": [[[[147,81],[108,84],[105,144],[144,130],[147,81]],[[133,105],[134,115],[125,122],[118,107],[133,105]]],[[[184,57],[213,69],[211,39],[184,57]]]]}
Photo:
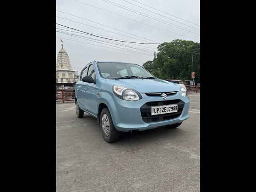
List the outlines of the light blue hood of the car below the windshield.
{"type": "Polygon", "coordinates": [[[122,85],[132,88],[139,93],[159,93],[180,91],[180,86],[176,83],[162,79],[107,79],[113,85],[122,85]]]}

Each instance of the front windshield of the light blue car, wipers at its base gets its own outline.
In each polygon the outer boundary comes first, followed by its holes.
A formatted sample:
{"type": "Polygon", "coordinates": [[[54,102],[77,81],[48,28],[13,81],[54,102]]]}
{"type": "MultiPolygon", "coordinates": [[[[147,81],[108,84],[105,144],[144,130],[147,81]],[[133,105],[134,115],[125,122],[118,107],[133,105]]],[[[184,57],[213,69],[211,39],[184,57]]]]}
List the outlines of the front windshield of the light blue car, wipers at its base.
{"type": "Polygon", "coordinates": [[[103,78],[155,78],[143,67],[131,63],[98,62],[98,68],[103,78]]]}

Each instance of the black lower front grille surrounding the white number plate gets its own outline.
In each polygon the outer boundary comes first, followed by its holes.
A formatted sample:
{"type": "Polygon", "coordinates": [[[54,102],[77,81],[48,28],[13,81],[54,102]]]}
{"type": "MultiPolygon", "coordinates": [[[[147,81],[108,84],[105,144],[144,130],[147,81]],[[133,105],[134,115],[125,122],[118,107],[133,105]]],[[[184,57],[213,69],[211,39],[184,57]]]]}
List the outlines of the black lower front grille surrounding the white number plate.
{"type": "Polygon", "coordinates": [[[140,108],[140,113],[142,116],[142,120],[146,123],[149,122],[158,122],[164,120],[170,120],[177,118],[181,115],[182,109],[184,107],[184,102],[182,100],[167,100],[167,101],[154,101],[154,102],[147,102],[140,108]],[[160,115],[153,115],[151,116],[151,107],[152,106],[162,106],[162,105],[172,105],[178,104],[178,111],[174,113],[167,113],[167,114],[160,114],[160,115]]]}

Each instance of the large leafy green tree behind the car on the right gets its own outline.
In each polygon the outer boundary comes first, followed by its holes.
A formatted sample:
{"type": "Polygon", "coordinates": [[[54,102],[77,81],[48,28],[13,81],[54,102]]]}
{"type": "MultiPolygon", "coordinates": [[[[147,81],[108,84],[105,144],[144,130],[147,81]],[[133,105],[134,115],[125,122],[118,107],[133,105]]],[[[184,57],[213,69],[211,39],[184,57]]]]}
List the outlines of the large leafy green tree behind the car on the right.
{"type": "Polygon", "coordinates": [[[200,43],[187,40],[173,40],[158,46],[153,61],[147,61],[143,67],[162,79],[191,80],[192,55],[196,83],[200,83],[200,43]]]}

